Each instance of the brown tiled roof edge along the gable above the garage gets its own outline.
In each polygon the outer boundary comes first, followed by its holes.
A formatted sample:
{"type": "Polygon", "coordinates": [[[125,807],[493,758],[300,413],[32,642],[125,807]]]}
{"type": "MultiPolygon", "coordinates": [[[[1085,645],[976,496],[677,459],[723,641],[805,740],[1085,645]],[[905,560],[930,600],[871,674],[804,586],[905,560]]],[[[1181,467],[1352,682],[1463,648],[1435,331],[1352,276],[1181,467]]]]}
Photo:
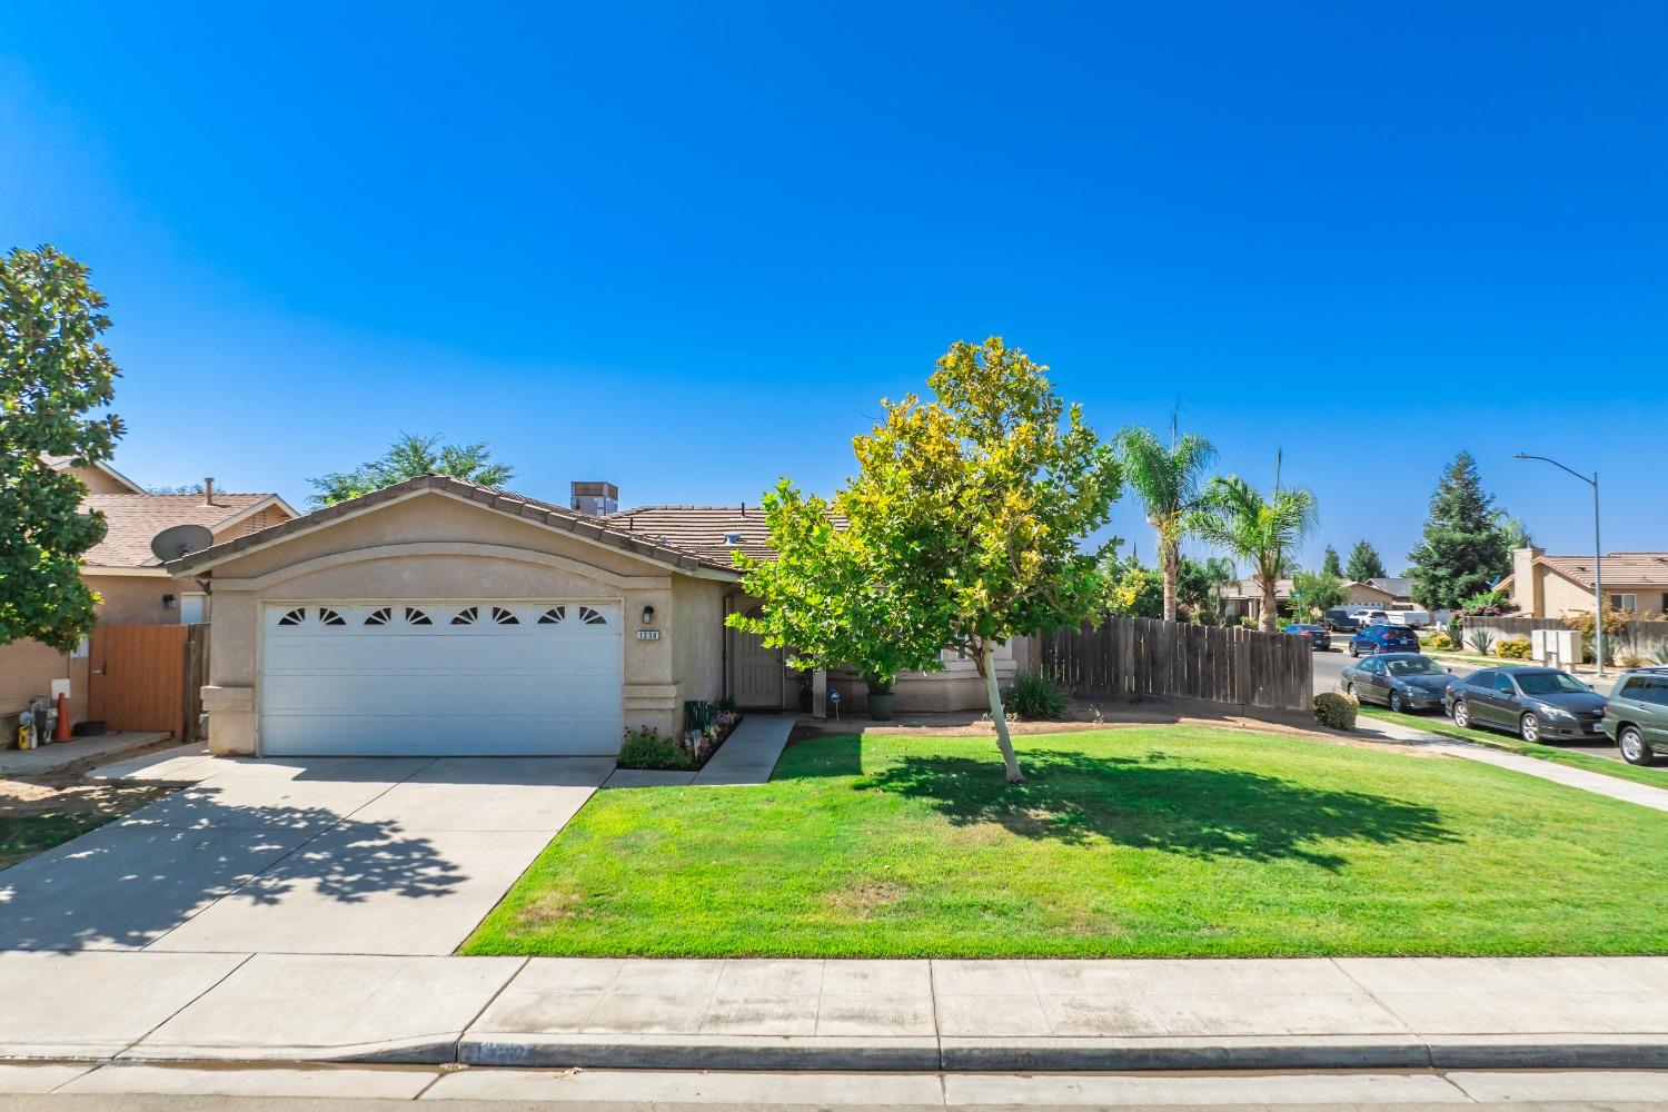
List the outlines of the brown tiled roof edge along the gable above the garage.
{"type": "Polygon", "coordinates": [[[590,540],[600,540],[615,548],[632,552],[647,560],[657,564],[669,564],[676,569],[684,569],[696,572],[701,569],[719,569],[726,572],[734,572],[729,559],[712,560],[689,548],[676,547],[669,542],[657,540],[657,537],[649,535],[644,530],[632,530],[614,522],[610,517],[594,517],[590,513],[580,513],[570,510],[565,505],[555,505],[552,502],[540,502],[539,498],[529,498],[527,495],[510,493],[509,490],[499,490],[497,487],[482,487],[480,483],[465,482],[462,478],[452,478],[450,475],[419,475],[417,478],[407,478],[402,483],[394,483],[392,487],[384,487],[382,490],[374,490],[359,498],[349,498],[347,502],[337,502],[335,505],[327,505],[322,510],[314,510],[312,513],[302,513],[300,517],[290,518],[287,522],[279,522],[269,528],[249,533],[247,537],[239,537],[225,543],[219,543],[212,548],[203,548],[202,552],[193,552],[182,560],[170,560],[167,564],[168,572],[173,575],[182,575],[185,572],[198,570],[203,567],[212,567],[224,560],[229,560],[242,552],[255,548],[259,545],[267,545],[284,537],[294,533],[310,532],[314,528],[324,528],[330,522],[360,513],[362,510],[372,508],[384,502],[394,502],[415,490],[440,490],[470,502],[477,502],[500,513],[509,513],[520,517],[547,528],[559,528],[579,537],[587,537],[590,540]]]}

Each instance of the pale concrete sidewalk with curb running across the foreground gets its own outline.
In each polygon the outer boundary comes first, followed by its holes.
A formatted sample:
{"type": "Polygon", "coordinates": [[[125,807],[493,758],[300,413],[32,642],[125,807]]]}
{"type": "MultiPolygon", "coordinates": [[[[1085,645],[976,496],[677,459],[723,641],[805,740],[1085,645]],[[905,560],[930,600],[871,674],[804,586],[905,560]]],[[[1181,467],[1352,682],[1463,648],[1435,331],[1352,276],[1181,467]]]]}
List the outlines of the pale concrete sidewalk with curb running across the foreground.
{"type": "Polygon", "coordinates": [[[1668,959],[0,954],[0,1059],[736,1070],[1663,1069],[1668,959]]]}

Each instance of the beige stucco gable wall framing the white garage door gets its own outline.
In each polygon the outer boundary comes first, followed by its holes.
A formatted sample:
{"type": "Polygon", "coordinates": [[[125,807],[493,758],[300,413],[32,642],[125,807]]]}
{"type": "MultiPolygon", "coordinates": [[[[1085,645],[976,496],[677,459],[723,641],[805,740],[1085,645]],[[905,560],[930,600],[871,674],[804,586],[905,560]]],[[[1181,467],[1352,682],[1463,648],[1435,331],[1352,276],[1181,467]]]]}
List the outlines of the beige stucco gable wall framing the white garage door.
{"type": "Polygon", "coordinates": [[[260,610],[269,602],[599,599],[624,617],[627,729],[676,734],[682,700],[717,694],[724,582],[692,580],[619,548],[439,492],[384,503],[214,569],[203,707],[215,752],[259,752],[260,610]],[[659,640],[637,640],[646,605],[659,640]],[[684,639],[689,639],[686,644],[684,639]]]}

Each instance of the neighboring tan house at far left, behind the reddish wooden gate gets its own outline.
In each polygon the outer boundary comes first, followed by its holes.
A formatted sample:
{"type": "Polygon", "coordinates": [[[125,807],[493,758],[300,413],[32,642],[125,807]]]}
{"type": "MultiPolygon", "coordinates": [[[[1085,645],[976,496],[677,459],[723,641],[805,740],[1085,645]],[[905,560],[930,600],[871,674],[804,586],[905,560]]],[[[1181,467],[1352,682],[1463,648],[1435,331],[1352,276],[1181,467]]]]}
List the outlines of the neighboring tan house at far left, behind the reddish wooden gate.
{"type": "MultiPolygon", "coordinates": [[[[87,487],[83,512],[105,515],[105,538],[82,564],[82,580],[98,592],[98,622],[103,625],[172,625],[207,622],[207,595],[197,584],[170,579],[162,562],[152,555],[150,542],[173,525],[202,525],[215,542],[232,540],[245,532],[265,528],[295,517],[275,493],[222,493],[214,482],[207,493],[148,493],[108,463],[75,467],[67,458],[48,460],[55,468],[73,472],[87,487]]],[[[38,642],[0,645],[0,715],[28,707],[35,695],[45,695],[52,680],[70,680],[72,717],[85,717],[88,669],[87,657],[62,654],[38,642]]]]}

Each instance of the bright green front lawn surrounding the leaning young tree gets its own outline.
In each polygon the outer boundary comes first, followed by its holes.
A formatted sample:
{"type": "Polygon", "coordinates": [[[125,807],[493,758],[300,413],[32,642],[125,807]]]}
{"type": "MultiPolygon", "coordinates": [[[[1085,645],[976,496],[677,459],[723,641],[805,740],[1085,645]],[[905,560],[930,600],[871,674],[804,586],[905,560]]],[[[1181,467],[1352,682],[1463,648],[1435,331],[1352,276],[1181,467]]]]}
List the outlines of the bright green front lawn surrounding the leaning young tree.
{"type": "Polygon", "coordinates": [[[1216,729],[822,737],[767,785],[599,792],[465,954],[1668,954],[1668,815],[1216,729]]]}

